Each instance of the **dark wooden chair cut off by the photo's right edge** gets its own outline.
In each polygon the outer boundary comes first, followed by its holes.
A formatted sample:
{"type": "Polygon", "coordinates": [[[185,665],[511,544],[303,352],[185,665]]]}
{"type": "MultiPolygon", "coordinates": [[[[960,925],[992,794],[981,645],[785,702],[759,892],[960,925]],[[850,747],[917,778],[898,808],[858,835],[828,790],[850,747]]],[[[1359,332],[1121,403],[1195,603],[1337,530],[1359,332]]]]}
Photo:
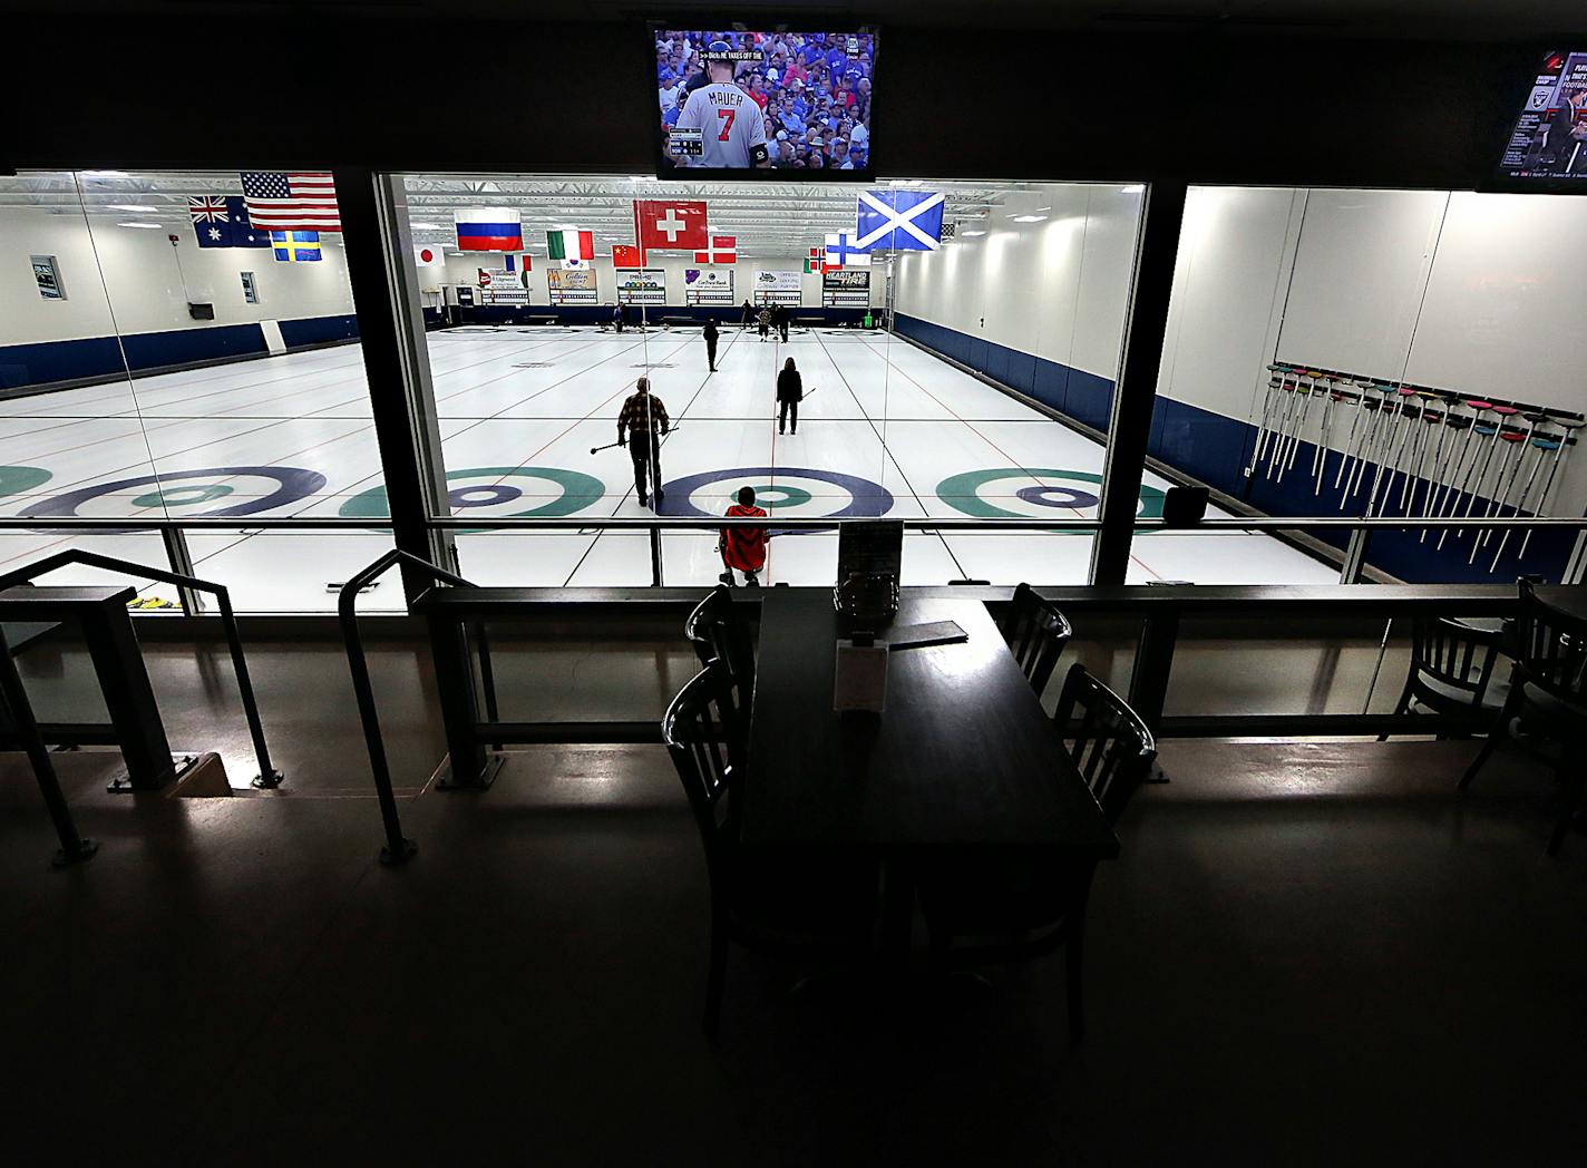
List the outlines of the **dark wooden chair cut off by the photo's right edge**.
{"type": "Polygon", "coordinates": [[[1500,743],[1511,736],[1511,722],[1520,719],[1528,732],[1560,744],[1555,773],[1560,779],[1560,811],[1549,835],[1549,855],[1558,855],[1571,817],[1582,798],[1587,747],[1587,620],[1570,616],[1538,600],[1531,581],[1520,587],[1519,659],[1511,670],[1509,697],[1489,730],[1489,738],[1460,776],[1460,790],[1482,770],[1500,743]]]}

